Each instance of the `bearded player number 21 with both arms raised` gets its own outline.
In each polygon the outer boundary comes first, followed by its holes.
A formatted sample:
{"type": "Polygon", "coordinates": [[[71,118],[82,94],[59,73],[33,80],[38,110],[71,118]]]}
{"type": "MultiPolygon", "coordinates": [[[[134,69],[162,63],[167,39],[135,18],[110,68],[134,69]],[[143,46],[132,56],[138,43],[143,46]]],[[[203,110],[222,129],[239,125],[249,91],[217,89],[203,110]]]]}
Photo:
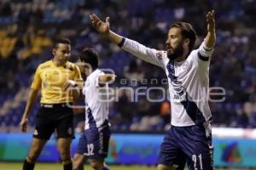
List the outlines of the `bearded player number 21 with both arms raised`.
{"type": "Polygon", "coordinates": [[[185,162],[189,169],[213,169],[208,89],[216,40],[214,10],[207,13],[207,36],[195,50],[196,33],[186,22],[174,23],[167,34],[166,50],[156,50],[111,31],[108,17],[102,22],[96,14],[91,14],[90,21],[102,37],[166,71],[172,127],[160,146],[157,170],[183,169],[185,162]]]}

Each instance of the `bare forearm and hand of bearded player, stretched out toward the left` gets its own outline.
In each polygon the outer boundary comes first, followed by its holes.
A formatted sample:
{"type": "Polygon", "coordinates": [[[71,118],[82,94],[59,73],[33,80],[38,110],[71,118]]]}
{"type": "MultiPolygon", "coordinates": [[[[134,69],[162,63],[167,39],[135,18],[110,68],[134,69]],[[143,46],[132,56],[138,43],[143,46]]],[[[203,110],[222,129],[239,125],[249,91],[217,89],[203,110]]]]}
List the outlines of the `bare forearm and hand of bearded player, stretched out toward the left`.
{"type": "Polygon", "coordinates": [[[99,32],[102,37],[107,38],[109,41],[119,44],[122,41],[121,36],[110,30],[109,17],[106,18],[106,22],[100,20],[96,14],[90,14],[91,25],[99,32]]]}

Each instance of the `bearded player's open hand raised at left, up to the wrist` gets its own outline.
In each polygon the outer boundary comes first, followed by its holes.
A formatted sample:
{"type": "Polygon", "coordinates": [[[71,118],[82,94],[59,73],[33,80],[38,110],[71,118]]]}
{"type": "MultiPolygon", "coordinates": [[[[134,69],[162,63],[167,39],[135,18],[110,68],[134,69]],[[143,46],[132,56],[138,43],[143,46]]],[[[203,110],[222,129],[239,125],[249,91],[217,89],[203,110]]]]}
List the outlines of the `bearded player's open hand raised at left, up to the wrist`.
{"type": "Polygon", "coordinates": [[[109,17],[106,18],[106,22],[102,22],[96,14],[90,14],[91,25],[102,35],[109,33],[109,17]]]}

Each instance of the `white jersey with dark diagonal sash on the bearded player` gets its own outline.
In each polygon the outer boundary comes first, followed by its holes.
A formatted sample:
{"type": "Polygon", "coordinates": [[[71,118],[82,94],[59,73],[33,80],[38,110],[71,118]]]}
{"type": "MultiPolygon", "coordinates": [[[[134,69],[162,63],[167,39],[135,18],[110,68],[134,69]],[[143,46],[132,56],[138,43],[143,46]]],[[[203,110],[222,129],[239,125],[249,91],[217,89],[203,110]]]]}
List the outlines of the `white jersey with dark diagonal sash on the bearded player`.
{"type": "Polygon", "coordinates": [[[121,48],[166,71],[172,105],[172,125],[192,126],[210,122],[212,114],[208,105],[209,64],[213,48],[202,42],[187,59],[176,62],[167,58],[166,51],[147,48],[142,44],[123,39],[121,48]]]}

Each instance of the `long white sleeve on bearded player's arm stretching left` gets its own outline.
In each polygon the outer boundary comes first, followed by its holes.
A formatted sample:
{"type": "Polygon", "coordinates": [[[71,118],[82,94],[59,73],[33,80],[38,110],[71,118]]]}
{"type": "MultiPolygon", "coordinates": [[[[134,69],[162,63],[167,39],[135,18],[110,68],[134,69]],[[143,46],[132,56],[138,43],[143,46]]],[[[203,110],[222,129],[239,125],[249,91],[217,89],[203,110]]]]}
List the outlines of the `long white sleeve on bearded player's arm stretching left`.
{"type": "Polygon", "coordinates": [[[128,38],[123,38],[121,44],[119,44],[119,47],[124,49],[126,52],[136,56],[139,59],[143,59],[148,63],[160,66],[163,69],[165,69],[165,51],[159,51],[154,48],[147,48],[143,44],[128,38]]]}

